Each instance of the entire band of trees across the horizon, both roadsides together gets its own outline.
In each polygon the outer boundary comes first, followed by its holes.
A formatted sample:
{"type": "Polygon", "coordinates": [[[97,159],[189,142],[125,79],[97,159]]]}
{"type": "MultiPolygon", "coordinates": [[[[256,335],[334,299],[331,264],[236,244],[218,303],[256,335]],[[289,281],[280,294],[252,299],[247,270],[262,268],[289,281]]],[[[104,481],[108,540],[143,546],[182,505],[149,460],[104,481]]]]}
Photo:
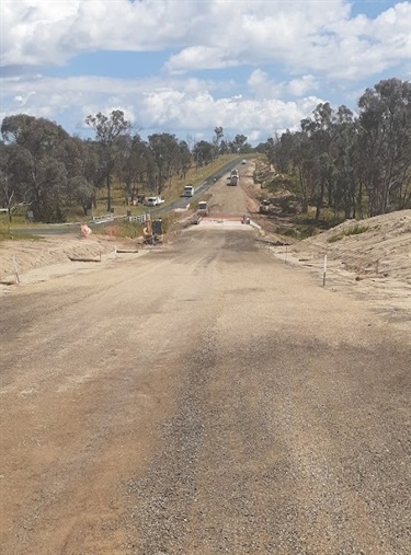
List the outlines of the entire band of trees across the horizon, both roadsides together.
{"type": "Polygon", "coordinates": [[[296,186],[302,211],[316,206],[316,218],[329,207],[345,218],[377,216],[411,206],[411,84],[380,81],[358,101],[357,114],[346,106],[319,104],[300,122],[253,149],[244,135],[225,137],[214,129],[210,141],[180,140],[153,134],[142,140],[122,111],[89,115],[93,139],[70,136],[46,118],[26,114],[5,117],[0,141],[0,206],[11,218],[25,206],[33,219],[65,221],[70,207],[84,216],[106,188],[112,209],[116,177],[124,197],[161,195],[175,176],[227,153],[263,152],[282,176],[296,186]]]}

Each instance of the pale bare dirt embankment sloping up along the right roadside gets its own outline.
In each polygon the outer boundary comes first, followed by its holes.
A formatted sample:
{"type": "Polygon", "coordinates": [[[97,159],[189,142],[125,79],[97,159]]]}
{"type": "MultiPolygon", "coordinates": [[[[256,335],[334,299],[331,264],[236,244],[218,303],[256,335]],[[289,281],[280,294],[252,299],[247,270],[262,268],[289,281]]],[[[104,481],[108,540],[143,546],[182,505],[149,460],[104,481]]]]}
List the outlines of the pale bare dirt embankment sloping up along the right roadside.
{"type": "Polygon", "coordinates": [[[251,176],[242,180],[242,186],[253,199],[249,209],[262,227],[262,241],[275,257],[310,271],[319,285],[372,302],[387,322],[410,328],[411,210],[347,220],[296,241],[277,233],[287,221],[285,215],[259,213],[261,186],[251,176]]]}

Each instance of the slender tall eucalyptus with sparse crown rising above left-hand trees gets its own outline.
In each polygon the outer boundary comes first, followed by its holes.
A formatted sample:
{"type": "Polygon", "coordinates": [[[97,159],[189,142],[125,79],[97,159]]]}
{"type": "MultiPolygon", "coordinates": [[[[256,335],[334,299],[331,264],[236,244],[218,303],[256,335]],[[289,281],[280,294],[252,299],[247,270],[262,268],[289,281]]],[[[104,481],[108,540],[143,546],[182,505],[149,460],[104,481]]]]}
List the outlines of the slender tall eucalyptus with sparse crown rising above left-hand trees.
{"type": "Polygon", "coordinates": [[[85,124],[95,132],[95,141],[100,144],[101,157],[105,167],[105,183],[107,187],[107,210],[112,209],[111,180],[118,158],[117,139],[127,135],[132,124],[124,117],[124,112],[114,109],[109,116],[99,112],[89,115],[85,124]]]}

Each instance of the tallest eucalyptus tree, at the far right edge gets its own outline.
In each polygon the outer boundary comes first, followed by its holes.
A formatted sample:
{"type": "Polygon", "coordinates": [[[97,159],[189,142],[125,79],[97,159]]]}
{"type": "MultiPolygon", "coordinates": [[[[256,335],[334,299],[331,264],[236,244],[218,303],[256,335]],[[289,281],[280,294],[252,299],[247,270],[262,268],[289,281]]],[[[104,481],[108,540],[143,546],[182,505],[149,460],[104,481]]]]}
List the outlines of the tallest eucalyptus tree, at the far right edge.
{"type": "Polygon", "coordinates": [[[358,101],[369,216],[404,207],[411,172],[411,83],[383,80],[358,101]]]}

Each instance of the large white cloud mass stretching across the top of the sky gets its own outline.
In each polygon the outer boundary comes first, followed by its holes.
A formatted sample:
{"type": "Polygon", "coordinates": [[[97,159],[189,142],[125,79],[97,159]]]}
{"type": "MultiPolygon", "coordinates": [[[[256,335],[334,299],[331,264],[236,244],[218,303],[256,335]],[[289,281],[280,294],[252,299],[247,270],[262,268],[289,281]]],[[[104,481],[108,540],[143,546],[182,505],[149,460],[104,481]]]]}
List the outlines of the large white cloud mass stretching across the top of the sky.
{"type": "Polygon", "coordinates": [[[99,49],[178,50],[171,72],[278,63],[352,80],[407,63],[411,3],[374,20],[345,0],[2,0],[1,62],[64,63],[99,49]]]}

